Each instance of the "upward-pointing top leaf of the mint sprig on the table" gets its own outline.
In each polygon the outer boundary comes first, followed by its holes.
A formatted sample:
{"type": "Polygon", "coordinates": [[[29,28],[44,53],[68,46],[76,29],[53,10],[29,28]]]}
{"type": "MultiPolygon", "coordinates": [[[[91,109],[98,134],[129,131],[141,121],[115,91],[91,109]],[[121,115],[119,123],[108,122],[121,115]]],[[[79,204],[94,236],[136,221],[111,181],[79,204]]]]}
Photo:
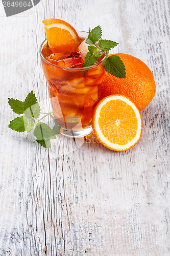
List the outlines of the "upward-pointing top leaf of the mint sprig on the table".
{"type": "Polygon", "coordinates": [[[38,118],[40,114],[40,106],[37,103],[37,98],[33,91],[29,93],[23,102],[23,108],[25,109],[24,114],[27,117],[38,118]]]}

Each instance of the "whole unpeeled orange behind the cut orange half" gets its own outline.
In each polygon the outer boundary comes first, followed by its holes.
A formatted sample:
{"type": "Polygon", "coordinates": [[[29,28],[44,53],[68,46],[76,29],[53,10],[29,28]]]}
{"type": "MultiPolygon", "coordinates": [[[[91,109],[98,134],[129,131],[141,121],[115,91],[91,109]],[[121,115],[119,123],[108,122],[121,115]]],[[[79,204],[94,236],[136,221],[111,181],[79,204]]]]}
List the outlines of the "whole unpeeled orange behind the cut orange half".
{"type": "Polygon", "coordinates": [[[102,82],[101,99],[112,94],[125,95],[141,111],[155,96],[156,85],[154,76],[148,66],[140,59],[124,53],[116,53],[116,55],[124,62],[126,78],[115,77],[105,72],[102,82]]]}

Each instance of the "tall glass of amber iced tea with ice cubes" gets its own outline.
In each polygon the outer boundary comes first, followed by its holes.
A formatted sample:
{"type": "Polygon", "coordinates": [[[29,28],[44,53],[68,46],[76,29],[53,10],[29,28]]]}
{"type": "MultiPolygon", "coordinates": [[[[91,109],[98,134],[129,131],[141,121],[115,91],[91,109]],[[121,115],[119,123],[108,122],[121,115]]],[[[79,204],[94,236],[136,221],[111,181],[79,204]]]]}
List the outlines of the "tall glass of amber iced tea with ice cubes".
{"type": "MultiPolygon", "coordinates": [[[[88,32],[77,31],[81,41],[88,32]]],[[[106,53],[107,55],[108,53],[106,53]]],[[[84,59],[79,51],[59,60],[45,39],[40,46],[43,72],[48,84],[53,114],[61,125],[60,133],[67,137],[81,138],[91,133],[91,118],[100,100],[104,77],[103,61],[82,68],[84,59]]]]}

